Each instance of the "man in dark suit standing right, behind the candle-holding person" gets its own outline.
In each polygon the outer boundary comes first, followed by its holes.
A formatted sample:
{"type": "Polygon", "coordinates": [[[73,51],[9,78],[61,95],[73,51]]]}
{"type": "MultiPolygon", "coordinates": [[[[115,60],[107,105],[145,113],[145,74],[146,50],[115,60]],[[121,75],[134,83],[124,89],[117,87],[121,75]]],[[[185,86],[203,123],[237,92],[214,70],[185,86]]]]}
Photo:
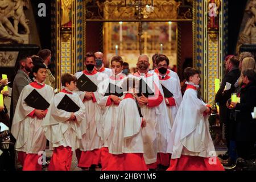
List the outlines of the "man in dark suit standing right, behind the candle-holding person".
{"type": "Polygon", "coordinates": [[[238,77],[240,77],[240,70],[238,68],[239,60],[236,56],[227,56],[225,59],[225,69],[226,69],[226,75],[224,76],[220,89],[216,93],[215,96],[215,102],[218,103],[220,106],[220,122],[221,125],[224,125],[225,127],[225,139],[226,139],[226,146],[228,147],[228,152],[226,152],[226,155],[229,153],[229,115],[230,110],[228,107],[226,107],[226,101],[231,98],[232,93],[235,90],[234,84],[236,83],[238,77]],[[226,82],[229,82],[231,84],[231,88],[229,90],[224,90],[226,82]]]}

